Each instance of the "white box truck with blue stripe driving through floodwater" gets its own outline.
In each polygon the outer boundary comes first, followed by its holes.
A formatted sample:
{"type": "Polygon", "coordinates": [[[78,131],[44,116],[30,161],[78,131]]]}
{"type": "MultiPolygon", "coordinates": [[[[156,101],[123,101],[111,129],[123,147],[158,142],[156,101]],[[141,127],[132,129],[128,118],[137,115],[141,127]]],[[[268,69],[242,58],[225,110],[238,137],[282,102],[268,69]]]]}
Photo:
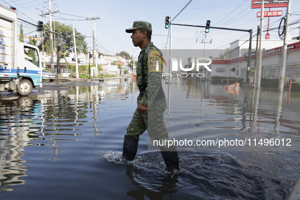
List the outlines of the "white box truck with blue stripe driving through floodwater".
{"type": "Polygon", "coordinates": [[[0,91],[29,95],[42,87],[39,48],[18,42],[17,12],[0,5],[0,91]]]}

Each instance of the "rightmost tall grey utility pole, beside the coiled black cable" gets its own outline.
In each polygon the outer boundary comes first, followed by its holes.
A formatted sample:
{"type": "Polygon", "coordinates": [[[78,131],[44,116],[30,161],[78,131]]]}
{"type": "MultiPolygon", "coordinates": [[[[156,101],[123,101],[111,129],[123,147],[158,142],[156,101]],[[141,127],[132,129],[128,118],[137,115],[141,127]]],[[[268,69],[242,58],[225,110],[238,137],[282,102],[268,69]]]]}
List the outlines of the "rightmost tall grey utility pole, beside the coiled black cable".
{"type": "Polygon", "coordinates": [[[282,92],[284,90],[284,77],[285,77],[285,68],[286,68],[286,55],[287,55],[287,35],[288,35],[288,23],[289,23],[289,15],[291,9],[291,0],[288,0],[287,3],[287,12],[286,12],[286,24],[285,25],[285,32],[284,32],[284,39],[283,39],[283,50],[281,56],[281,68],[280,68],[280,76],[279,76],[279,88],[278,91],[282,92]]]}

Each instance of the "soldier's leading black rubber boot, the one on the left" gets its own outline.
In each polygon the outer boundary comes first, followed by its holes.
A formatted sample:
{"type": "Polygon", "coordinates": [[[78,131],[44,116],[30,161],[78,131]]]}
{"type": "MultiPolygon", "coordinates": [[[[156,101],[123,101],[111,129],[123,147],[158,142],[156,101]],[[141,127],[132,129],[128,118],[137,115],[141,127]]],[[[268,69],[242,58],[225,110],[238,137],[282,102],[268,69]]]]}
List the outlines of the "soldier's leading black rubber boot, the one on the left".
{"type": "Polygon", "coordinates": [[[138,151],[139,139],[124,136],[123,157],[132,161],[135,159],[138,151]]]}

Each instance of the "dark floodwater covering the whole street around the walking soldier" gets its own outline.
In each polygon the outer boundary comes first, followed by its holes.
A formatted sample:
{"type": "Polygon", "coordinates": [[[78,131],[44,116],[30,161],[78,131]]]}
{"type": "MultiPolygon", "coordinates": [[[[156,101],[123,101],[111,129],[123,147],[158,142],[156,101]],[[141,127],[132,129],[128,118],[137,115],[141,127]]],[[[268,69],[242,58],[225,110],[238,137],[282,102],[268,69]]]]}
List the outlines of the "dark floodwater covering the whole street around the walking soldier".
{"type": "Polygon", "coordinates": [[[180,170],[169,172],[145,132],[127,162],[135,82],[45,83],[26,97],[0,94],[0,199],[288,198],[300,176],[299,92],[173,81],[163,81],[171,140],[246,145],[178,146],[180,170]]]}

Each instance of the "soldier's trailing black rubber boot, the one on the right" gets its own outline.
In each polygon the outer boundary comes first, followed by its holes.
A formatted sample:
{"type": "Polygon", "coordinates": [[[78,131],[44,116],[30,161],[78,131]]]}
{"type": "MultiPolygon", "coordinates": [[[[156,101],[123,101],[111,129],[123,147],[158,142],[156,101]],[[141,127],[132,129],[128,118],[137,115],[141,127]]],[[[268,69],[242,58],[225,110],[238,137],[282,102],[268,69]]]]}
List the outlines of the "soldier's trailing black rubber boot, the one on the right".
{"type": "Polygon", "coordinates": [[[160,149],[164,163],[169,170],[179,169],[179,158],[176,146],[160,149]]]}

